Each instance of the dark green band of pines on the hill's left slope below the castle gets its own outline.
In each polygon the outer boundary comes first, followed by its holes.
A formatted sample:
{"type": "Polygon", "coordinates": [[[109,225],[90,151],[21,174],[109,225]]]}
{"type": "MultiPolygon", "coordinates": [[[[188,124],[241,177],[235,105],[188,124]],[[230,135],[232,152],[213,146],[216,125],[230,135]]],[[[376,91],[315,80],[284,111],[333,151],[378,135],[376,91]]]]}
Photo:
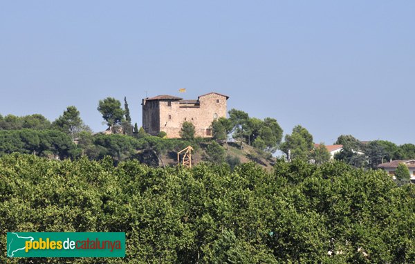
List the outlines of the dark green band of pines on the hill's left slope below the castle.
{"type": "MultiPolygon", "coordinates": [[[[122,134],[92,135],[82,131],[77,144],[70,135],[57,130],[0,130],[0,156],[13,152],[32,153],[48,158],[100,160],[109,155],[115,162],[136,158],[151,166],[163,165],[160,155],[181,150],[191,143],[186,140],[158,138],[142,131],[136,137],[122,134]]],[[[194,145],[195,149],[199,147],[194,145]]]]}

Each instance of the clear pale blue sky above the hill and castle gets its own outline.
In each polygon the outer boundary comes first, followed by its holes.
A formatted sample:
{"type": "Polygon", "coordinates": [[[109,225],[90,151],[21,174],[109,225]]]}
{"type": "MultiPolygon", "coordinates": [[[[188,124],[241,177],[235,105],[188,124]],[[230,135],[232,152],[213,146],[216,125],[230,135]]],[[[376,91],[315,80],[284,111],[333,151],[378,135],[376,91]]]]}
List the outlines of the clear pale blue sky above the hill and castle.
{"type": "Polygon", "coordinates": [[[415,143],[415,1],[0,1],[0,114],[49,120],[99,100],[228,95],[228,110],[415,143]],[[186,93],[178,89],[186,88],[186,93]]]}

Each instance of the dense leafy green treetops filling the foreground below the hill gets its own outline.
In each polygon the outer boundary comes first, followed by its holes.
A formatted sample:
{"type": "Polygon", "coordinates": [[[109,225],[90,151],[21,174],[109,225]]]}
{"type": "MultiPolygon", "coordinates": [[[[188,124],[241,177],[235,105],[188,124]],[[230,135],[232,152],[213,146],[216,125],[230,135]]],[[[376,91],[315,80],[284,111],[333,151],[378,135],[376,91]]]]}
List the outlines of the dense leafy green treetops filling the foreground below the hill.
{"type": "Polygon", "coordinates": [[[414,185],[339,162],[279,161],[267,173],[5,155],[0,215],[1,248],[6,232],[127,234],[125,258],[8,263],[415,262],[414,185]]]}

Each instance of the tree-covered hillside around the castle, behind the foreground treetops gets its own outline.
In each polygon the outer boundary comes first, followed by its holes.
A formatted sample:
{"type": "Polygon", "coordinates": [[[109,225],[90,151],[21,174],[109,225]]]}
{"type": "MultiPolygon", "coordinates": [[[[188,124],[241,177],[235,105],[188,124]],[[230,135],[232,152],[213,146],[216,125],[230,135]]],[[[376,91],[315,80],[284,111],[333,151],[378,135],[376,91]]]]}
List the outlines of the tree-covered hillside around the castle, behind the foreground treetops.
{"type": "Polygon", "coordinates": [[[165,131],[157,136],[148,135],[137,123],[133,125],[126,97],[123,109],[119,100],[107,97],[98,102],[97,110],[108,126],[101,133],[92,133],[75,106],[68,106],[53,122],[39,114],[0,115],[0,155],[33,153],[61,160],[80,156],[100,160],[110,155],[115,162],[136,159],[152,167],[165,167],[176,164],[177,151],[191,145],[195,164],[225,162],[231,168],[241,162],[254,161],[270,169],[277,150],[286,160],[323,164],[334,158],[365,169],[376,169],[378,164],[388,160],[415,159],[412,143],[398,146],[385,140],[362,142],[353,135],[340,135],[333,144],[342,145],[342,150],[331,157],[323,142],[315,146],[313,135],[303,126],[295,126],[291,134],[284,136],[275,118],[261,120],[237,109],[228,111],[229,118],[212,120],[212,138],[195,137],[196,127],[185,121],[180,139],[167,139],[171,135],[165,131]],[[227,143],[230,137],[233,144],[227,143]]]}

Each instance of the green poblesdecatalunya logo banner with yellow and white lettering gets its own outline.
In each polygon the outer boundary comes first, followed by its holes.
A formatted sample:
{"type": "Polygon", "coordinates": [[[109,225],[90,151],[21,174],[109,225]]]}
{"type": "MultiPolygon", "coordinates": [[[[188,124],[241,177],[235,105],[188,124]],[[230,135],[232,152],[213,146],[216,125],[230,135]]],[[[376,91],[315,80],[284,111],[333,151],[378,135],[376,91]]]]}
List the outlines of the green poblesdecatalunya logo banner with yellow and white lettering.
{"type": "Polygon", "coordinates": [[[125,233],[7,233],[8,257],[124,257],[125,233]]]}

